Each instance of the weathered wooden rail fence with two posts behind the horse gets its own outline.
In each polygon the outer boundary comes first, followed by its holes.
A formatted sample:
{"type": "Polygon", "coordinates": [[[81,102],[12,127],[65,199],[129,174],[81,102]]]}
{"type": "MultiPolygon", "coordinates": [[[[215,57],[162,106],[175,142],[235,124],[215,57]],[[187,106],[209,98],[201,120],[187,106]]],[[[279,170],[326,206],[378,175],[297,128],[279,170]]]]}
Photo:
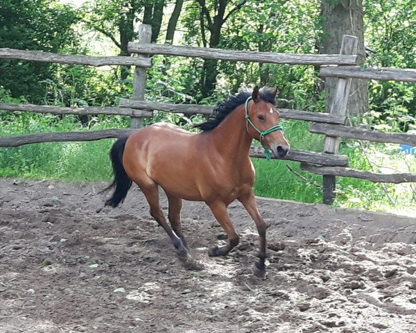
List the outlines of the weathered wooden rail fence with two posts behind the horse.
{"type": "MultiPolygon", "coordinates": [[[[320,113],[288,109],[279,109],[279,112],[281,113],[281,118],[284,119],[311,121],[312,123],[309,128],[311,133],[326,135],[324,151],[322,153],[315,153],[310,151],[291,150],[288,155],[284,157],[284,160],[301,162],[300,166],[304,171],[323,176],[324,203],[333,202],[336,176],[361,178],[372,182],[416,182],[416,173],[381,174],[349,169],[347,156],[338,155],[340,137],[416,146],[416,135],[381,133],[375,130],[364,130],[361,128],[344,126],[352,78],[416,82],[415,69],[361,68],[359,66],[360,60],[356,55],[357,38],[349,35],[344,36],[339,55],[263,53],[157,45],[150,44],[150,36],[150,26],[145,24],[141,25],[139,28],[139,42],[130,42],[128,45],[128,49],[131,53],[139,53],[137,57],[73,56],[58,55],[41,51],[0,49],[0,58],[90,66],[136,66],[132,98],[122,99],[119,103],[119,107],[58,108],[49,105],[0,103],[0,110],[78,115],[120,114],[131,117],[132,129],[110,129],[70,133],[37,133],[15,137],[0,137],[0,147],[16,147],[37,142],[92,141],[115,138],[124,135],[125,133],[129,133],[135,128],[139,128],[145,117],[153,117],[153,110],[184,114],[211,114],[214,108],[207,105],[184,105],[144,101],[146,68],[151,66],[151,60],[148,57],[152,55],[157,54],[164,56],[197,57],[286,65],[314,65],[320,66],[320,74],[322,77],[333,76],[338,78],[336,94],[332,105],[330,105],[329,108],[330,112],[320,113]]],[[[261,147],[257,146],[253,146],[250,149],[250,155],[252,157],[265,157],[261,147]]]]}

